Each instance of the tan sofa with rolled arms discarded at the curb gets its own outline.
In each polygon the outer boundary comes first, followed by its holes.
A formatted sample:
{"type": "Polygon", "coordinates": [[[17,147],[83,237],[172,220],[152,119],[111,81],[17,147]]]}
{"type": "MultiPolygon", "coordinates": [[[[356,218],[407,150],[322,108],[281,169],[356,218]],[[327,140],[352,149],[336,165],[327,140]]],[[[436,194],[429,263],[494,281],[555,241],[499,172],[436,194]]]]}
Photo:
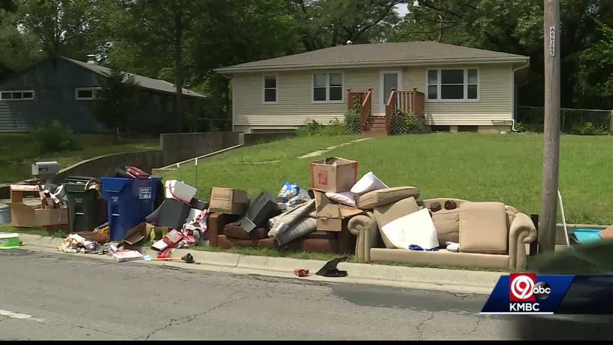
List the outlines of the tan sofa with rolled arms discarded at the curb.
{"type": "Polygon", "coordinates": [[[452,198],[416,201],[411,197],[397,201],[397,204],[375,207],[373,212],[350,219],[348,228],[357,236],[356,257],[359,262],[407,262],[520,270],[526,267],[525,244],[536,240],[536,228],[530,217],[517,212],[514,207],[452,198]],[[390,248],[389,244],[386,247],[379,232],[383,215],[395,219],[399,216],[398,209],[406,214],[422,207],[430,208],[435,202],[443,205],[448,200],[453,200],[457,208],[447,210],[441,207],[440,211],[432,212],[440,250],[428,252],[396,249],[390,248]],[[389,217],[390,212],[396,214],[389,217]],[[446,241],[459,242],[460,251],[444,249],[446,241]]]}

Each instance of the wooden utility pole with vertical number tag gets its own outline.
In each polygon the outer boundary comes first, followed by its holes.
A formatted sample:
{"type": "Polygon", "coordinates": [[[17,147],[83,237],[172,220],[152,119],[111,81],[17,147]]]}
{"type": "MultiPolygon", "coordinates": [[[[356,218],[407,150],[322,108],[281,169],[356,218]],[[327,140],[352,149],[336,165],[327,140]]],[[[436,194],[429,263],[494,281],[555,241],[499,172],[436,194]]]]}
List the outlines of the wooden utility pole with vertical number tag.
{"type": "Polygon", "coordinates": [[[544,7],[545,128],[538,243],[543,252],[554,252],[560,169],[560,0],[544,0],[544,7]]]}

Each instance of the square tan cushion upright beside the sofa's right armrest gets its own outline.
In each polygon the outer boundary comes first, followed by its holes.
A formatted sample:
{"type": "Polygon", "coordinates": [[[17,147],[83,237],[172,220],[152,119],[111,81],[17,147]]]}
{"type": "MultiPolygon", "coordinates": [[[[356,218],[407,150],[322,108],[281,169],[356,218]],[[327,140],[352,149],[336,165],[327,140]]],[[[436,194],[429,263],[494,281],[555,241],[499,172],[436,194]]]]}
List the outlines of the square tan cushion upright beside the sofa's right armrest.
{"type": "Polygon", "coordinates": [[[508,236],[503,203],[460,205],[460,252],[506,254],[508,236]]]}

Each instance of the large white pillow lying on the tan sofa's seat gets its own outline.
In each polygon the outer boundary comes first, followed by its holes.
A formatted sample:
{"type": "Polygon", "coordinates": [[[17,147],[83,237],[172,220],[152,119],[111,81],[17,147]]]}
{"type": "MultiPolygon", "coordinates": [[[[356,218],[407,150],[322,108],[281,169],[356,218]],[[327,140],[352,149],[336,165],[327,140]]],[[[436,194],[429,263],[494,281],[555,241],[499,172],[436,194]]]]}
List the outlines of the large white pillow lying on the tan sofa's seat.
{"type": "Polygon", "coordinates": [[[392,220],[383,225],[381,235],[398,249],[408,250],[411,245],[420,246],[424,250],[438,247],[438,236],[428,209],[392,220]]]}

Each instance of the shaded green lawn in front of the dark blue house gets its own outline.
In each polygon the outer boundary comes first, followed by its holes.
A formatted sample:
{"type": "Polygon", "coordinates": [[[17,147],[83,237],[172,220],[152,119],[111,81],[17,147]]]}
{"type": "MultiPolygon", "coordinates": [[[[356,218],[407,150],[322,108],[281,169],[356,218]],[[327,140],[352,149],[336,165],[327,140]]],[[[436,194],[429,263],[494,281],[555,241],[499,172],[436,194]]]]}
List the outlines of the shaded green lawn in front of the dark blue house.
{"type": "Polygon", "coordinates": [[[155,149],[158,138],[122,138],[113,144],[113,136],[105,134],[77,134],[80,149],[61,153],[40,154],[31,134],[0,134],[0,184],[15,183],[31,176],[33,161],[58,161],[61,168],[78,161],[111,153],[155,149]]]}

